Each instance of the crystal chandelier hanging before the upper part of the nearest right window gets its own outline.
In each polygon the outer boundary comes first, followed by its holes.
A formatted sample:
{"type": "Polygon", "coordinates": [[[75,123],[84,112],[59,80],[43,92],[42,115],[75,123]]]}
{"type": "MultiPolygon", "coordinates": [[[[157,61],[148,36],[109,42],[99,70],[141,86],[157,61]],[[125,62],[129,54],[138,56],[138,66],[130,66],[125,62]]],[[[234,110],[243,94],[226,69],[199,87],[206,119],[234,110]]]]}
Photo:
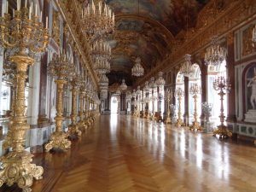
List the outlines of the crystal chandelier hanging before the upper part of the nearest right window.
{"type": "Polygon", "coordinates": [[[226,51],[224,48],[219,46],[218,36],[215,35],[212,37],[212,44],[205,54],[205,63],[206,65],[218,66],[226,58],[226,51]]]}

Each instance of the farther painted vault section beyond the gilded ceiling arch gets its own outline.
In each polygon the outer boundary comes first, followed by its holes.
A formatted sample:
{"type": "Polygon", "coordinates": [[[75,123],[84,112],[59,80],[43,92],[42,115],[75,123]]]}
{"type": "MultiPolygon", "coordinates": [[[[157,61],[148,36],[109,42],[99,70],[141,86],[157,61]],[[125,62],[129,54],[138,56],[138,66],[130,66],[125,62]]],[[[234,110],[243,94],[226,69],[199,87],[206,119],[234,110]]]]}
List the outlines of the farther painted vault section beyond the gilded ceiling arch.
{"type": "MultiPolygon", "coordinates": [[[[131,79],[131,68],[137,56],[142,60],[144,73],[148,73],[156,66],[157,61],[171,52],[171,42],[172,39],[166,37],[159,26],[148,20],[132,16],[117,17],[116,30],[108,38],[112,48],[111,71],[130,78],[127,81],[132,83],[137,79],[131,79]]],[[[113,73],[108,75],[109,84],[114,83],[113,79],[116,78],[112,76],[113,73]]]]}

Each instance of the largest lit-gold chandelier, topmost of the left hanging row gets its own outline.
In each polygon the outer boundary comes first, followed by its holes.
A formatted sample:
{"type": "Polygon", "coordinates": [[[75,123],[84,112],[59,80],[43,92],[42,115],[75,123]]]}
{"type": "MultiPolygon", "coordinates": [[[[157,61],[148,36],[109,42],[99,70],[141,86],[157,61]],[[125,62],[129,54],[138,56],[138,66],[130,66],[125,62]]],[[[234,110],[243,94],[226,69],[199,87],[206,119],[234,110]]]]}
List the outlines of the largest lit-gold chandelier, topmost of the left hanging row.
{"type": "Polygon", "coordinates": [[[85,35],[93,40],[114,30],[114,14],[106,3],[94,3],[93,0],[82,9],[85,35]]]}

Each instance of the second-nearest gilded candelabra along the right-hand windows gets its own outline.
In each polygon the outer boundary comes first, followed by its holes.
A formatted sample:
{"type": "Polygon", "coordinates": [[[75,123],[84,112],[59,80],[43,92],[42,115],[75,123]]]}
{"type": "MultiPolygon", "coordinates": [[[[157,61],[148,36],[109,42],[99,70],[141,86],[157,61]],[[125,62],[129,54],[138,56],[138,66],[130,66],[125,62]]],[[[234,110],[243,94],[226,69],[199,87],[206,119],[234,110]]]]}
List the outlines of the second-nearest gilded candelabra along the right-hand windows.
{"type": "Polygon", "coordinates": [[[191,131],[201,131],[202,127],[200,123],[197,121],[197,95],[201,92],[201,89],[199,88],[198,84],[192,84],[192,86],[189,89],[190,94],[194,98],[194,121],[192,125],[189,127],[189,130],[191,131]]]}

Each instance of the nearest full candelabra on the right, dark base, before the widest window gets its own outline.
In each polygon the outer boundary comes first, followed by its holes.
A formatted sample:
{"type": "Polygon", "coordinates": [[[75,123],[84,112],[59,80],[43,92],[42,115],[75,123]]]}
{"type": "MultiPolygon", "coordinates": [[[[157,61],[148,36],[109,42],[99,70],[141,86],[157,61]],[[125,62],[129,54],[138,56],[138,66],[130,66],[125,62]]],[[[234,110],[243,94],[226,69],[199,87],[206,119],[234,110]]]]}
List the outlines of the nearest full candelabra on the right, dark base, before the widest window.
{"type": "Polygon", "coordinates": [[[220,125],[218,125],[217,130],[213,131],[213,136],[219,135],[221,138],[231,137],[232,132],[228,130],[228,128],[224,125],[224,96],[226,93],[229,93],[231,90],[230,81],[225,79],[223,76],[218,77],[213,82],[214,90],[219,90],[218,96],[220,96],[220,115],[218,116],[220,119],[220,125]],[[225,90],[225,92],[224,92],[225,90]]]}

